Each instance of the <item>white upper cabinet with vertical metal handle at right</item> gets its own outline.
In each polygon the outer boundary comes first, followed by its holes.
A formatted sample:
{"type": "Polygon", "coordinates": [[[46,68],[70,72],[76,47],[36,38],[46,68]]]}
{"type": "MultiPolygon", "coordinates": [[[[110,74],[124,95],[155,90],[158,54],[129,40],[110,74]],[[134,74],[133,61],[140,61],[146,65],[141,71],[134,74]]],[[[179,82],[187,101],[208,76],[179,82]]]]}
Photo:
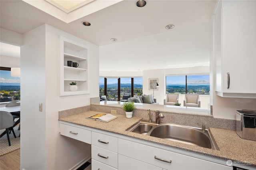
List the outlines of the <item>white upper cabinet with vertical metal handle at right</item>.
{"type": "Polygon", "coordinates": [[[214,16],[215,91],[256,98],[256,1],[218,1],[214,16]]]}

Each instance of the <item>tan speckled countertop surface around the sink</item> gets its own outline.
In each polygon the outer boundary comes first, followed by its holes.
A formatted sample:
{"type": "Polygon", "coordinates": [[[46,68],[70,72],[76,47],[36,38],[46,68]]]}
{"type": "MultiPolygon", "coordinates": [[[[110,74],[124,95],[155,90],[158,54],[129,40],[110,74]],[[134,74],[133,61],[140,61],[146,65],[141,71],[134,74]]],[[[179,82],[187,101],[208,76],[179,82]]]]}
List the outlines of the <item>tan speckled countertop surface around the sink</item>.
{"type": "Polygon", "coordinates": [[[141,140],[154,142],[157,144],[171,146],[174,148],[180,148],[183,150],[205,154],[216,158],[222,158],[224,160],[250,162],[251,166],[256,166],[256,141],[242,139],[236,134],[234,130],[210,128],[214,139],[220,149],[212,150],[200,146],[193,146],[181,142],[175,142],[171,140],[126,131],[127,128],[140,121],[142,119],[140,117],[132,117],[131,119],[127,119],[125,115],[116,115],[118,118],[108,123],[86,119],[86,117],[90,117],[97,113],[101,112],[87,111],[85,113],[79,113],[76,115],[64,117],[59,120],[86,127],[96,128],[99,130],[105,130],[116,134],[122,134],[141,140]]]}

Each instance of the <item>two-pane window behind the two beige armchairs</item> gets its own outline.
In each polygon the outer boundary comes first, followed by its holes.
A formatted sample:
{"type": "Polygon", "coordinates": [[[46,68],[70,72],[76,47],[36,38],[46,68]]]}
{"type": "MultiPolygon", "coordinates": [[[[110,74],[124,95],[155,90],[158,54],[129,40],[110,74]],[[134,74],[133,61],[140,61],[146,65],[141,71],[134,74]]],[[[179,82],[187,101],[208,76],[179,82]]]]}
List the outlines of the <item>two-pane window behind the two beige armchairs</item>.
{"type": "Polygon", "coordinates": [[[210,95],[210,75],[166,76],[166,93],[210,95]]]}

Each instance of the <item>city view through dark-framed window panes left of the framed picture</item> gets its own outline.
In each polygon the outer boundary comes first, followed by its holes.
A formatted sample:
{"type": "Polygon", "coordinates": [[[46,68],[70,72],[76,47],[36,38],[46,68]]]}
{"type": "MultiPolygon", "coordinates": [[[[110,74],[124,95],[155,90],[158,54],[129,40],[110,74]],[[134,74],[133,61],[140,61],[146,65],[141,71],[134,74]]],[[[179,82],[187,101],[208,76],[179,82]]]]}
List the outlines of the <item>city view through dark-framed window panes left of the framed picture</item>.
{"type": "MultiPolygon", "coordinates": [[[[133,78],[133,95],[142,95],[142,77],[133,78]]],[[[118,78],[107,78],[107,100],[118,101],[118,78]]],[[[105,95],[104,77],[100,77],[100,96],[105,95]]],[[[132,96],[132,79],[131,77],[120,78],[120,99],[122,97],[132,96]]]]}

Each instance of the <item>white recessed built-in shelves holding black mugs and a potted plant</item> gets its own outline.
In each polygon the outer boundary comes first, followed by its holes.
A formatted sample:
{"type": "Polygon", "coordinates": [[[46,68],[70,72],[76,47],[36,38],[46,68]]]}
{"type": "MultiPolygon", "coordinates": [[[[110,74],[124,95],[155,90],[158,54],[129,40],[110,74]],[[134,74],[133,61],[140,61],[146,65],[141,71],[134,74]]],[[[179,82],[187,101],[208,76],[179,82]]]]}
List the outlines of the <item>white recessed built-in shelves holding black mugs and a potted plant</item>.
{"type": "Polygon", "coordinates": [[[86,45],[60,37],[60,96],[89,93],[88,86],[89,48],[86,45]],[[67,61],[78,63],[68,66],[67,61]],[[77,83],[78,90],[70,91],[70,83],[77,83]]]}

